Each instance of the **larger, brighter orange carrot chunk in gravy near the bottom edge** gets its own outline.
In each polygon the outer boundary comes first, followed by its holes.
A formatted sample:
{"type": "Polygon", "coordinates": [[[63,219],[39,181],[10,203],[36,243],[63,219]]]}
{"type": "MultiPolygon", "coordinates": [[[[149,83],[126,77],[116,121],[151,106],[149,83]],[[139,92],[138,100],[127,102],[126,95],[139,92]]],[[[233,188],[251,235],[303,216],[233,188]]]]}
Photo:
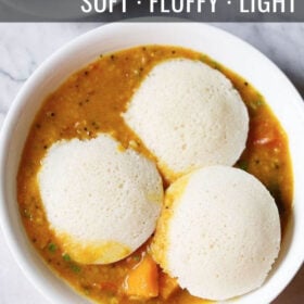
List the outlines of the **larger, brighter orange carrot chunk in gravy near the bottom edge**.
{"type": "Polygon", "coordinates": [[[153,258],[145,254],[129,271],[124,282],[125,293],[130,297],[149,299],[159,295],[159,269],[153,258]]]}

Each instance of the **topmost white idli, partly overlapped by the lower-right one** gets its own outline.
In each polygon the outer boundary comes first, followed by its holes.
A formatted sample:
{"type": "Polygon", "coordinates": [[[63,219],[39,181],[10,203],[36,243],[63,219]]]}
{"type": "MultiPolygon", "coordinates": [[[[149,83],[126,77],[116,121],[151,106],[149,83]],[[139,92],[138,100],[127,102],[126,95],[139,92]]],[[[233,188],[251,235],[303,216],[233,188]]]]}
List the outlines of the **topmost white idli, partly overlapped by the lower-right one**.
{"type": "Polygon", "coordinates": [[[170,180],[207,165],[233,165],[245,148],[249,116],[231,81],[188,59],[157,64],[123,113],[170,180]]]}

